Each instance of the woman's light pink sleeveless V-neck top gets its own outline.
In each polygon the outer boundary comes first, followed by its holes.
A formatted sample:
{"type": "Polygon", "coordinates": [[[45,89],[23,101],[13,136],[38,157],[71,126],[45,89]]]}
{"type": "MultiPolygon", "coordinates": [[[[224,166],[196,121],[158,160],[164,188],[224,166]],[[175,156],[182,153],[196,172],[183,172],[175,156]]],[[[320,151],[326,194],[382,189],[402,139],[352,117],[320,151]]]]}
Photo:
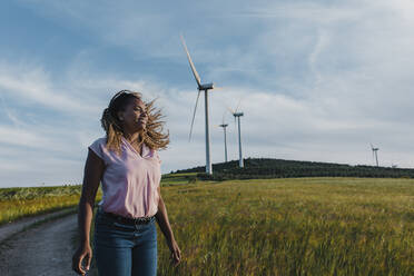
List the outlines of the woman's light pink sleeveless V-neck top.
{"type": "Polygon", "coordinates": [[[99,206],[124,217],[149,217],[158,210],[158,186],[161,180],[157,150],[142,145],[142,156],[122,137],[121,155],[108,150],[106,137],[89,146],[105,162],[99,206]]]}

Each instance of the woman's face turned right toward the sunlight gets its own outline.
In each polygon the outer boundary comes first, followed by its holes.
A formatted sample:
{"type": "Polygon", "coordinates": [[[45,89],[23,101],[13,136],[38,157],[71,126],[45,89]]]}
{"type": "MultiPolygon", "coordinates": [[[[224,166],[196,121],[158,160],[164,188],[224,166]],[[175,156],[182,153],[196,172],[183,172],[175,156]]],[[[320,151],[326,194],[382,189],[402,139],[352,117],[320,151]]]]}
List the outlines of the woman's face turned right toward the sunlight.
{"type": "Polygon", "coordinates": [[[122,122],[124,130],[129,132],[144,130],[148,122],[146,106],[137,98],[130,99],[125,110],[119,111],[118,117],[122,122]]]}

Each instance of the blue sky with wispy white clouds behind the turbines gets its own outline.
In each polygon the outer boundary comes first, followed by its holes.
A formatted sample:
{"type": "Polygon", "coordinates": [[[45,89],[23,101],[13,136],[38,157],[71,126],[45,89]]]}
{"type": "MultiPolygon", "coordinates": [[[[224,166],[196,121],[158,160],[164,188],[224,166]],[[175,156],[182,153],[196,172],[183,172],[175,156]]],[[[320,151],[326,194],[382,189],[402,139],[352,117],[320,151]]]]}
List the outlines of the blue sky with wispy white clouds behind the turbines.
{"type": "Polygon", "coordinates": [[[211,159],[237,137],[245,157],[414,167],[414,3],[395,1],[2,1],[0,187],[80,184],[100,115],[121,89],[158,97],[170,147],[162,172],[205,164],[204,102],[179,34],[210,93],[211,159]]]}

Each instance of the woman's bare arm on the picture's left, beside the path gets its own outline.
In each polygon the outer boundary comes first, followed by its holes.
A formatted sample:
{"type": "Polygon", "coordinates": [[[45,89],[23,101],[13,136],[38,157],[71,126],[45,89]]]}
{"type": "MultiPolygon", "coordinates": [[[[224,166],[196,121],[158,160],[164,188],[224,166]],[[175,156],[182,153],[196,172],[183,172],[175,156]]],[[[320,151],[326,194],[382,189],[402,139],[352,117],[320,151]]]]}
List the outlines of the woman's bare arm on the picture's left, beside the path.
{"type": "Polygon", "coordinates": [[[85,165],[82,194],[79,200],[78,228],[80,245],[72,258],[72,268],[78,274],[85,275],[82,269],[82,259],[86,259],[86,269],[89,269],[92,258],[92,250],[89,245],[90,224],[93,216],[93,205],[100,179],[105,169],[103,161],[89,149],[88,158],[85,165]]]}

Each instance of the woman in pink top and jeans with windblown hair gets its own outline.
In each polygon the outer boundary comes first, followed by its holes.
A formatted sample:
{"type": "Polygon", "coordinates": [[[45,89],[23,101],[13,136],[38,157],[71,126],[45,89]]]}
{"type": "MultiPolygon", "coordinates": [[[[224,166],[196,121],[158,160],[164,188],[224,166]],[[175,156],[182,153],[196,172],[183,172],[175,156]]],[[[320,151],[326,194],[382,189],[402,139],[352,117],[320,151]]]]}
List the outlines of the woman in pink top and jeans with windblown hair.
{"type": "Polygon", "coordinates": [[[175,265],[180,249],[168,221],[160,194],[160,159],[169,135],[162,134],[161,114],[141,95],[119,91],[105,109],[101,124],[106,137],[90,147],[85,166],[78,224],[80,246],[72,268],[86,275],[92,258],[89,231],[99,183],[102,200],[95,221],[93,252],[100,276],[156,275],[157,220],[167,239],[175,265]],[[82,262],[85,267],[82,267],[82,262]]]}

